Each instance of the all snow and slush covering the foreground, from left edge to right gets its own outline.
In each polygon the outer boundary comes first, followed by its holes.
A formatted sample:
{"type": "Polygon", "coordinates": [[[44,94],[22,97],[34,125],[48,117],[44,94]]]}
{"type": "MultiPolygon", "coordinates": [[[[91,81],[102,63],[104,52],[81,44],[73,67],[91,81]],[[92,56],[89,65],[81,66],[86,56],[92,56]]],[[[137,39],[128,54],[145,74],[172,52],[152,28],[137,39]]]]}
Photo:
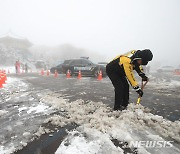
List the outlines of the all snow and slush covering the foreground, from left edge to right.
{"type": "Polygon", "coordinates": [[[126,149],[125,143],[142,154],[180,153],[180,121],[153,115],[142,105],[129,104],[120,112],[102,102],[69,102],[61,93],[30,90],[24,81],[10,77],[0,93],[0,154],[13,153],[51,132],[42,127],[46,123],[56,127],[79,125],[68,132],[56,154],[120,154],[126,149]],[[115,146],[113,140],[123,147],[115,146]],[[132,143],[136,141],[144,144],[135,148],[132,143]]]}

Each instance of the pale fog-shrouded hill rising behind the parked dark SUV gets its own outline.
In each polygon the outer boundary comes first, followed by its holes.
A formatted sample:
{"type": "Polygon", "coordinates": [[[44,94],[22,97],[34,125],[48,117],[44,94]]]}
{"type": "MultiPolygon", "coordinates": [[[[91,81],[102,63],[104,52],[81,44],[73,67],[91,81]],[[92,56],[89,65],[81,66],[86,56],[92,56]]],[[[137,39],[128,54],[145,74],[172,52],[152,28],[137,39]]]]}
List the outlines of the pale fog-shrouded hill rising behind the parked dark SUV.
{"type": "Polygon", "coordinates": [[[34,60],[44,60],[50,65],[57,65],[66,59],[88,57],[94,63],[105,62],[106,57],[101,53],[78,48],[71,44],[58,46],[34,45],[30,49],[34,60]]]}

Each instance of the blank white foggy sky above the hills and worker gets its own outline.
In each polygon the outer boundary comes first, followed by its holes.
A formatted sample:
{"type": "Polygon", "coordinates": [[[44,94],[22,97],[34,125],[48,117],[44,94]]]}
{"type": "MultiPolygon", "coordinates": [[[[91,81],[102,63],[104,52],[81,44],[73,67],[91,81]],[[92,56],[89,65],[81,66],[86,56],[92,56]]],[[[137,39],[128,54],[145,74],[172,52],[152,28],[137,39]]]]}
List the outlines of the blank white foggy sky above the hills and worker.
{"type": "Polygon", "coordinates": [[[10,29],[34,44],[110,58],[149,48],[154,60],[180,64],[180,0],[0,0],[0,35],[10,29]]]}

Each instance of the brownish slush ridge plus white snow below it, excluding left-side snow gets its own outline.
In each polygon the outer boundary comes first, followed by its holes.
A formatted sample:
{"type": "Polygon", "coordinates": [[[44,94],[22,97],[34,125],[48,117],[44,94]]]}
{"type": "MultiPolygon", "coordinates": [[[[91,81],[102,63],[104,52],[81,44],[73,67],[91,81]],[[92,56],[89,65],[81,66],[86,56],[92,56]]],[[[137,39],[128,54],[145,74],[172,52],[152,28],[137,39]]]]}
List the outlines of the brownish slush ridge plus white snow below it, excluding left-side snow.
{"type": "MultiPolygon", "coordinates": [[[[128,109],[111,111],[101,102],[85,103],[82,100],[67,103],[57,94],[49,94],[42,100],[66,113],[66,116],[54,115],[45,122],[64,126],[75,122],[77,130],[69,132],[56,154],[102,153],[119,154],[123,149],[116,147],[112,139],[121,142],[131,141],[176,141],[180,142],[180,122],[171,122],[161,116],[149,113],[141,105],[130,104],[128,109]],[[67,144],[68,143],[68,144],[67,144]]],[[[175,146],[171,148],[140,147],[138,153],[179,153],[175,146]]]]}

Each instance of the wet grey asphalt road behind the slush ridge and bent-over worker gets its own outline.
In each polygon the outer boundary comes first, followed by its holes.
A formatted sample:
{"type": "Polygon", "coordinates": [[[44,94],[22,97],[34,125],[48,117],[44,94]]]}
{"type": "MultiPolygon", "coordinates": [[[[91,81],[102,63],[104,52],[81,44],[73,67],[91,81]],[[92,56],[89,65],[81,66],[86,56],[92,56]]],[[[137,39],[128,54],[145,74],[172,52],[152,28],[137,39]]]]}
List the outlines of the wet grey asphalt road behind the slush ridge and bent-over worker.
{"type": "MultiPolygon", "coordinates": [[[[67,79],[65,75],[60,74],[57,78],[53,75],[41,76],[37,73],[30,74],[11,74],[9,76],[21,78],[24,82],[30,84],[30,89],[51,90],[60,93],[70,102],[82,99],[86,102],[103,102],[113,108],[114,88],[108,79],[98,81],[94,77],[83,77],[78,80],[77,77],[67,79]]],[[[158,76],[153,74],[153,83],[161,80],[176,80],[180,82],[180,76],[158,76]]],[[[163,116],[171,121],[180,119],[180,87],[167,88],[155,85],[147,85],[144,90],[144,96],[141,104],[148,107],[152,113],[163,116]]],[[[136,102],[137,94],[130,87],[130,102],[136,102]]]]}

